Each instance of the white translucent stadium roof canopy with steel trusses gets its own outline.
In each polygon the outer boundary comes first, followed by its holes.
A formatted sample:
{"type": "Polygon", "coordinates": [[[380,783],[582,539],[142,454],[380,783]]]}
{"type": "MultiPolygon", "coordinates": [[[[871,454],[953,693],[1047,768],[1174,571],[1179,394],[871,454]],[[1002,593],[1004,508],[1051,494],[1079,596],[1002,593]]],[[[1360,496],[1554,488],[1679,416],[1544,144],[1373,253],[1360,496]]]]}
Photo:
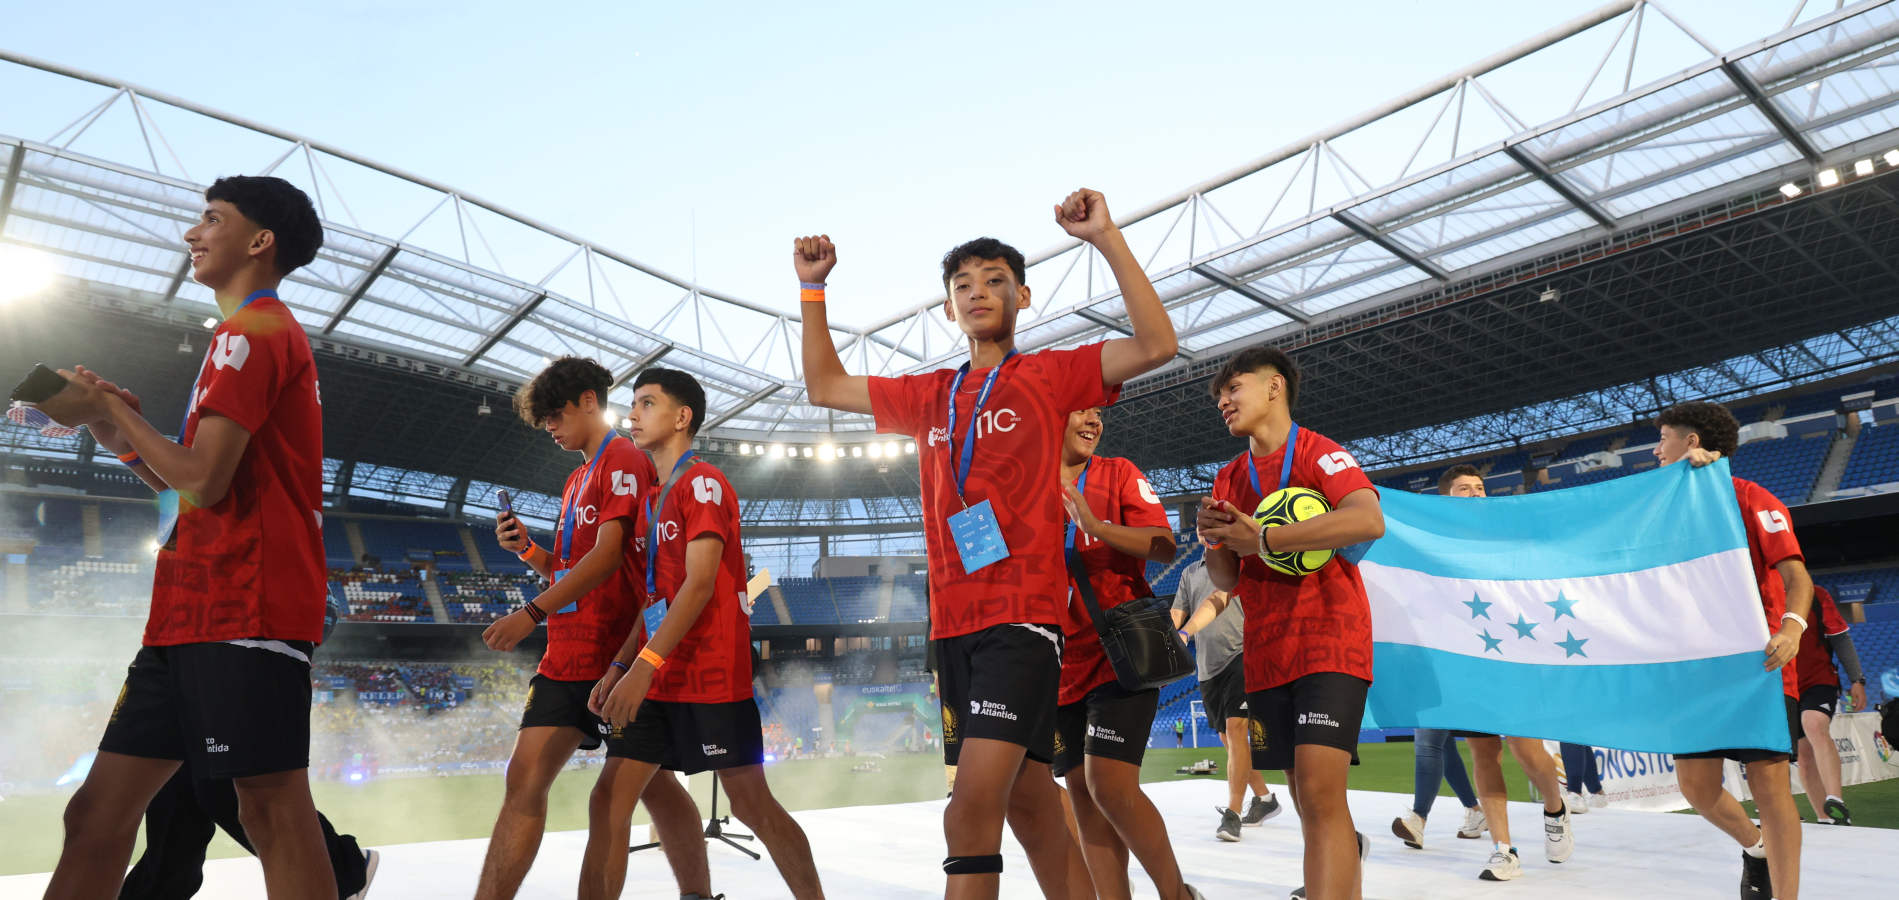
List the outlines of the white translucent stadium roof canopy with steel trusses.
{"type": "MultiPolygon", "coordinates": [[[[1821,167],[1899,129],[1899,8],[1800,21],[1806,6],[1779,34],[1722,53],[1654,2],[1614,2],[1122,216],[1179,330],[1175,365],[1310,332],[1717,192],[1814,190],[1821,167]],[[1588,72],[1567,108],[1551,70],[1588,72]],[[1637,85],[1639,72],[1662,74],[1637,85]]],[[[76,118],[47,139],[0,139],[0,239],[57,254],[68,275],[156,308],[209,308],[180,243],[203,190],[186,159],[199,173],[273,173],[308,190],[329,228],[319,260],[285,291],[313,336],[499,382],[551,355],[591,355],[615,372],[621,406],[630,376],[665,361],[705,382],[712,437],[870,433],[864,416],[803,401],[799,323],[773,306],[287,131],[0,59],[74,97],[76,118]],[[232,156],[241,152],[256,158],[232,156]]],[[[1056,247],[1031,270],[1043,304],[1022,327],[1025,347],[1128,330],[1092,249],[1056,247]]],[[[934,368],[963,346],[936,309],[929,300],[834,338],[855,370],[934,368]]]]}

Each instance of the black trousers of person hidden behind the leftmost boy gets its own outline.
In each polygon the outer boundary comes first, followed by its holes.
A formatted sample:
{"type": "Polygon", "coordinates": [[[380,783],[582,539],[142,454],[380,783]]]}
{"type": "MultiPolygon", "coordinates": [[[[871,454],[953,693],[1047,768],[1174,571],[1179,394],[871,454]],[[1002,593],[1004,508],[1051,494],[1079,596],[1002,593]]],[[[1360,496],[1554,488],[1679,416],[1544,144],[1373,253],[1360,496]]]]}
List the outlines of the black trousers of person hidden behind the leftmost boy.
{"type": "MultiPolygon", "coordinates": [[[[363,891],[365,860],[355,837],[336,834],[317,813],[323,845],[330,851],[336,896],[363,891]]],[[[144,807],[144,854],[125,873],[120,900],[186,900],[205,883],[205,847],[222,828],[243,849],[256,853],[237,820],[237,786],[230,778],[192,778],[179,771],[144,807]]]]}

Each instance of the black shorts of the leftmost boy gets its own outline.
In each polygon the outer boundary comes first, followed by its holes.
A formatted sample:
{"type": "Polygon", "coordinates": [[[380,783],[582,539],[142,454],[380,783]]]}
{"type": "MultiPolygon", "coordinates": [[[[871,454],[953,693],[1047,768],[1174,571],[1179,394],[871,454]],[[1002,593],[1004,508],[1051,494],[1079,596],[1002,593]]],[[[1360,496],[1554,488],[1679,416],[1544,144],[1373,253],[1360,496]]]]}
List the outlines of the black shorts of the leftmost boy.
{"type": "Polygon", "coordinates": [[[310,767],[310,642],[141,647],[99,750],[180,759],[197,778],[310,767]]]}

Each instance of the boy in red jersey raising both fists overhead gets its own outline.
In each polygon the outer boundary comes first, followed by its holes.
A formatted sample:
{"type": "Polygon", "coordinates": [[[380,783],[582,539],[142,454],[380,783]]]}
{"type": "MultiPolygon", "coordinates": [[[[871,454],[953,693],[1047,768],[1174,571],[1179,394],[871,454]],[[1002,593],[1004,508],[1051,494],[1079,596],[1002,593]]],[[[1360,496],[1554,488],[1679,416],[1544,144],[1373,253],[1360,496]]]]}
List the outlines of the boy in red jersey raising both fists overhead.
{"type": "Polygon", "coordinates": [[[853,376],[824,315],[830,237],[794,241],[801,283],[805,393],[815,406],[875,416],[877,431],[917,441],[923,534],[931,560],[931,638],[940,659],[944,761],[957,767],[944,809],[946,896],[997,896],[1003,820],[1018,828],[1048,896],[1077,862],[1046,777],[1016,782],[1054,758],[1056,687],[1067,577],[1062,564],[1062,429],[1101,406],[1120,382],[1162,366],[1177,344],[1160,296],[1094,190],[1056,207],[1056,222],[1115,272],[1132,338],[1016,353],[1016,313],[1029,308],[1016,249],[984,237],[944,256],[944,315],[968,338],[961,370],[853,376]],[[1010,805],[1016,811],[1010,811],[1010,805]]]}

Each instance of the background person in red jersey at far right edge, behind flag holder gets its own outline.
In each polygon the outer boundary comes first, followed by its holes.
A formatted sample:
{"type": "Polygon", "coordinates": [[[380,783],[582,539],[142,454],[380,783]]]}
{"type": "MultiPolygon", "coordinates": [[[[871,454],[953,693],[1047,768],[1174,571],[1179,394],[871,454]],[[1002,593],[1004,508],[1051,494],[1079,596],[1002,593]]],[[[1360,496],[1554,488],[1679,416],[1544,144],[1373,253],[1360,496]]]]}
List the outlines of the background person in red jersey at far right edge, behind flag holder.
{"type": "Polygon", "coordinates": [[[1819,628],[1800,632],[1800,653],[1793,657],[1800,685],[1800,746],[1795,756],[1800,758],[1800,784],[1814,816],[1821,824],[1848,826],[1853,815],[1840,796],[1840,748],[1833,742],[1833,708],[1840,703],[1840,670],[1833,668],[1833,657],[1840,657],[1852,684],[1846,712],[1867,708],[1867,674],[1859,670],[1859,649],[1838,604],[1819,585],[1814,585],[1814,609],[1819,628]],[[1825,801],[1814,803],[1815,796],[1825,801]]]}

